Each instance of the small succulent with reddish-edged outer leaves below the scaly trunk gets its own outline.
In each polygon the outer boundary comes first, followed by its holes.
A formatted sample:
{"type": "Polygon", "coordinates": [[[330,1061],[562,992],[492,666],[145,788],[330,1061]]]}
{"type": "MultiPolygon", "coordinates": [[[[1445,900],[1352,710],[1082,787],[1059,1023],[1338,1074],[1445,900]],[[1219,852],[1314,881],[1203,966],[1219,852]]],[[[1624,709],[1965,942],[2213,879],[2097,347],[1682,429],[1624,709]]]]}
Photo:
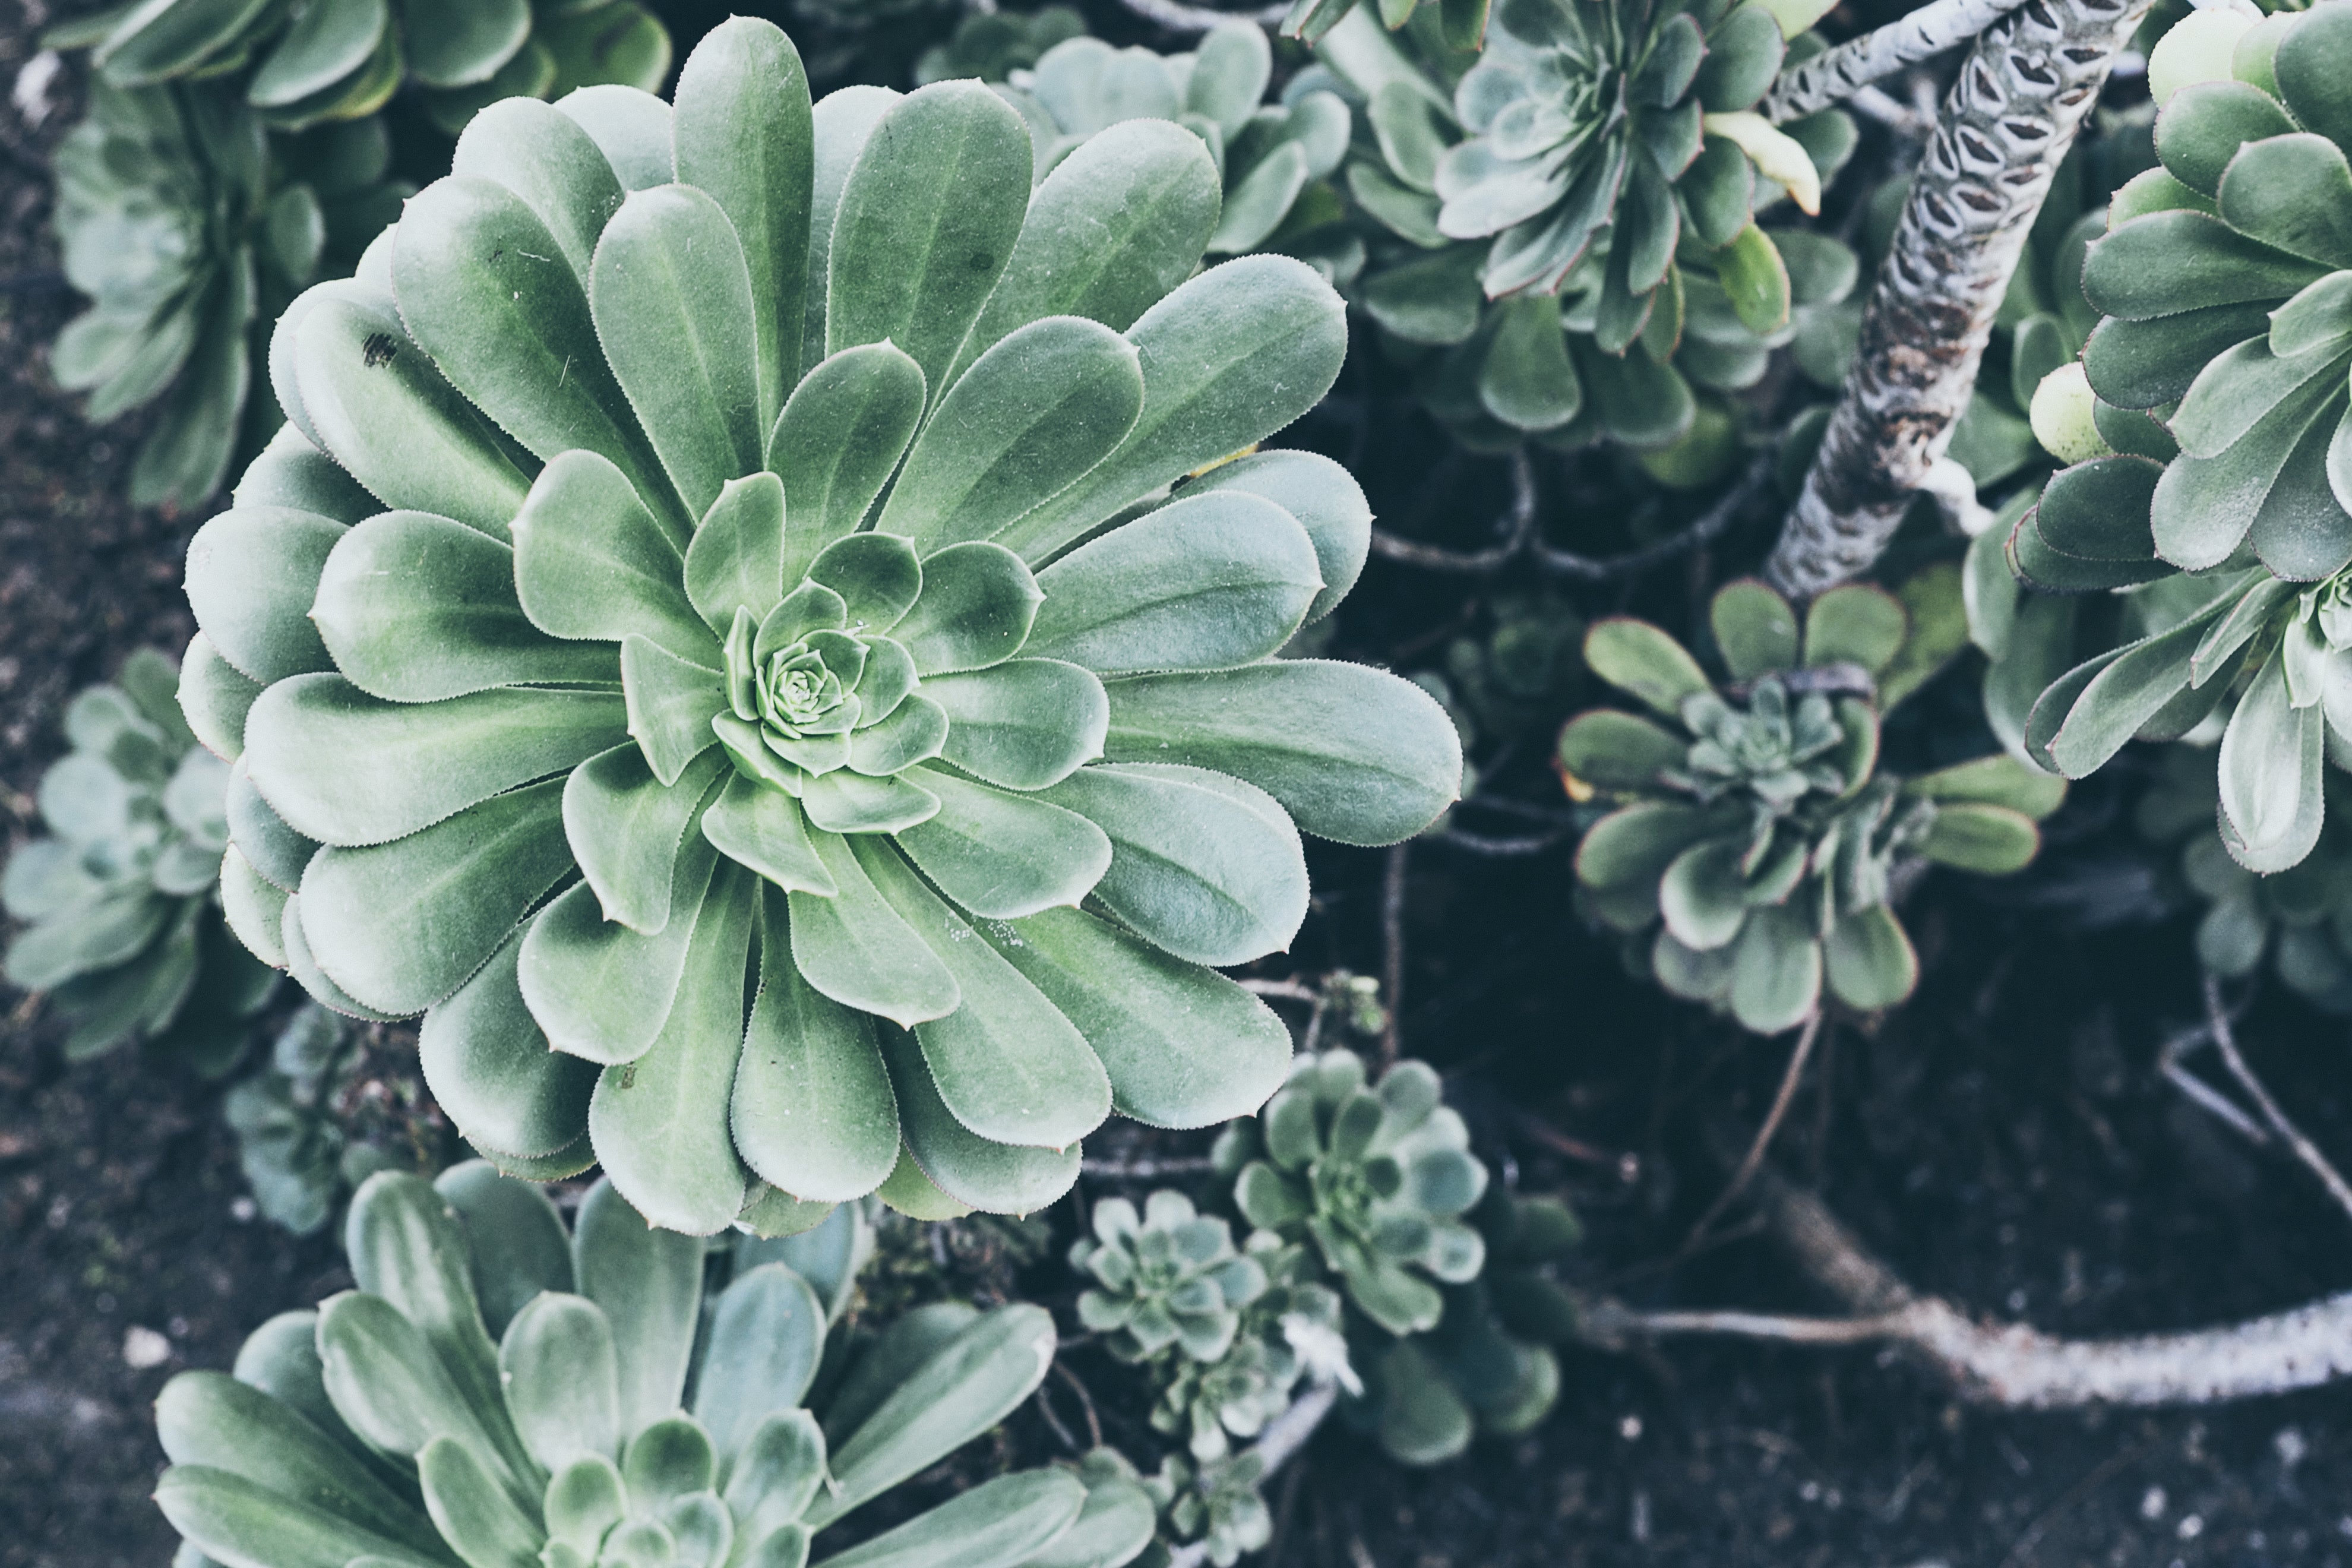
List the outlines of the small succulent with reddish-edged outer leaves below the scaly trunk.
{"type": "Polygon", "coordinates": [[[2065,795],[2011,757],[1917,778],[1879,769],[1879,717],[1966,642],[1959,574],[1896,597],[1832,588],[1804,618],[1757,581],[1712,599],[1717,684],[1668,632],[1609,618],[1585,663],[1649,715],[1611,708],[1559,733],[1571,792],[1625,802],[1585,832],[1576,882],[1602,924],[1649,938],[1658,983],[1759,1034],[1795,1027],[1823,983],[1851,1009],[1910,997],[1919,959],[1889,907],[1903,858],[2025,867],[2065,795]]]}

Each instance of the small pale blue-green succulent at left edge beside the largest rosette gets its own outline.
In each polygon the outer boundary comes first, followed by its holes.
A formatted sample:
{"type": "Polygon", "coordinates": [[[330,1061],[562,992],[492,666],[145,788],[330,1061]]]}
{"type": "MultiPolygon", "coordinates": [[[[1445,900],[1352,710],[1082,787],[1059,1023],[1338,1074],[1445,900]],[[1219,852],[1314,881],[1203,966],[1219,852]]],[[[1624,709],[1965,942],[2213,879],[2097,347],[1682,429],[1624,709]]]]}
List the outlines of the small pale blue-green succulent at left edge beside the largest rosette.
{"type": "Polygon", "coordinates": [[[73,750],[38,792],[49,837],[0,875],[0,907],[28,922],[5,976],[52,992],[66,1060],[141,1041],[221,1077],[278,980],[214,900],[228,771],[179,717],[169,658],[139,649],[115,679],[66,708],[73,750]]]}

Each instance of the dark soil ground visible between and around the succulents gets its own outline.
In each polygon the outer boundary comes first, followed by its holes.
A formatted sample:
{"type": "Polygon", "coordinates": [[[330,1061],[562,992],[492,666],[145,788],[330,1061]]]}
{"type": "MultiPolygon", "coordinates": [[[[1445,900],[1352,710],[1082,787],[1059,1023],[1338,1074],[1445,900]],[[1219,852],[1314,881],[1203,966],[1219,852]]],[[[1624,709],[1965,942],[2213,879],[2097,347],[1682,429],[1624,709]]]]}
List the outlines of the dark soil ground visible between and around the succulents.
{"type": "MultiPolygon", "coordinates": [[[[35,7],[0,0],[0,80],[35,47],[35,7]]],[[[1115,12],[1108,0],[1089,9],[1115,12]]],[[[198,520],[125,508],[136,430],[87,428],[45,371],[75,310],[54,282],[45,155],[75,113],[73,71],[40,127],[0,108],[9,844],[33,830],[31,792],[61,750],[66,698],[132,649],[176,649],[193,630],[179,574],[198,520]]],[[[1376,381],[1352,369],[1343,393],[1376,402],[1376,381]]],[[[1352,430],[1331,414],[1291,440],[1343,451],[1352,430]]],[[[1395,435],[1374,444],[1397,468],[1369,477],[1383,515],[1477,543],[1501,501],[1494,465],[1465,465],[1432,491],[1414,465],[1435,447],[1414,440],[1435,433],[1395,435]]],[[[1592,465],[1571,477],[1606,487],[1592,465]]],[[[1573,508],[1583,491],[1562,494],[1573,508]]],[[[1581,545],[1628,529],[1597,520],[1581,545]]],[[[1653,574],[1639,604],[1682,625],[1691,585],[1759,548],[1755,531],[1733,536],[1712,562],[1653,574]]],[[[1602,590],[1578,609],[1618,602],[1602,590]]],[[[1477,609],[1461,581],[1374,564],[1336,651],[1432,665],[1477,609]]],[[[1964,712],[1971,675],[1950,679],[1947,712],[1964,712]]],[[[1494,778],[1543,799],[1534,752],[1494,778]]],[[[1936,877],[1919,889],[1910,924],[1926,985],[1877,1032],[1832,1027],[1778,1168],[1818,1182],[1912,1286],[2053,1333],[2187,1328],[2343,1291],[2347,1218],[2284,1154],[2244,1145],[2154,1072],[2161,1039],[2197,1016],[2194,964],[2150,860],[2117,849],[2117,804],[2119,785],[2079,792],[2053,825],[2053,853],[2018,886],[1936,877]],[[2086,914],[2117,905],[2145,919],[2084,931],[2086,914]]],[[[1385,858],[1319,851],[1315,870],[1301,973],[1378,973],[1385,858]]],[[[1404,1048],[1451,1072],[1482,1154],[1522,1190],[1576,1204],[1590,1227],[1578,1284],[1637,1305],[1835,1309],[1759,1237],[1646,1267],[1724,1182],[1717,1145],[1752,1133],[1788,1041],[1740,1037],[1630,983],[1578,924],[1569,886],[1557,849],[1496,860],[1416,846],[1404,1048]],[[1531,1119],[1592,1154],[1562,1157],[1531,1119]]],[[[2352,1157],[2343,1023],[2265,997],[2241,1034],[2321,1147],[2352,1157]]],[[[66,1067],[35,999],[12,997],[0,1018],[0,1568],[160,1568],[174,1540],[148,1505],[162,1462],[146,1408],[155,1389],[176,1368],[226,1366],[261,1319],[343,1281],[329,1239],[289,1241],[238,1218],[249,1208],[216,1095],[134,1056],[66,1067]]],[[[1195,1150],[1164,1138],[1150,1152],[1195,1150]]],[[[1068,1215],[1054,1222],[1065,1237],[1068,1215]]],[[[1065,1295],[1068,1281],[1047,1291],[1065,1295]]],[[[1129,1427],[1098,1380],[1108,1368],[1084,1352],[1075,1363],[1112,1429],[1129,1427]]],[[[1063,1425],[1077,1425],[1063,1385],[1051,1387],[1063,1425]]],[[[1014,1425],[1021,1448],[1051,1441],[1035,1415],[1014,1425]]],[[[1458,1465],[1404,1472],[1334,1429],[1270,1490],[1279,1568],[2340,1568],[2352,1561],[2352,1406],[2314,1392],[2016,1415],[1957,1403],[1875,1352],[1675,1342],[1569,1354],[1543,1429],[1479,1443],[1458,1465]]]]}

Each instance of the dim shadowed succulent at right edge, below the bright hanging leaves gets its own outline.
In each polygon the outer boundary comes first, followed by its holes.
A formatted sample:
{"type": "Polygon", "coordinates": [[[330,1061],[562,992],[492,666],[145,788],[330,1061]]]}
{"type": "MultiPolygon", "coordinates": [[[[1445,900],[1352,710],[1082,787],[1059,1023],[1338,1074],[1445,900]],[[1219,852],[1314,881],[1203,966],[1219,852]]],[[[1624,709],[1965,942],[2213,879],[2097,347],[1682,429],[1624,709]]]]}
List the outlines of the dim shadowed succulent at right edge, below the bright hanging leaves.
{"type": "Polygon", "coordinates": [[[2157,780],[2133,813],[2140,832],[2180,844],[2180,875],[2206,905],[2197,919],[2197,961],[2239,980],[2267,961],[2288,990],[2328,1013],[2352,1013],[2352,823],[2345,780],[2328,778],[2338,816],[2312,853],[2272,877],[2230,858],[2216,832],[2220,780],[2201,745],[2169,745],[2157,780]]]}

